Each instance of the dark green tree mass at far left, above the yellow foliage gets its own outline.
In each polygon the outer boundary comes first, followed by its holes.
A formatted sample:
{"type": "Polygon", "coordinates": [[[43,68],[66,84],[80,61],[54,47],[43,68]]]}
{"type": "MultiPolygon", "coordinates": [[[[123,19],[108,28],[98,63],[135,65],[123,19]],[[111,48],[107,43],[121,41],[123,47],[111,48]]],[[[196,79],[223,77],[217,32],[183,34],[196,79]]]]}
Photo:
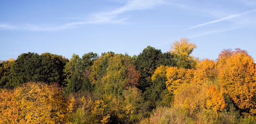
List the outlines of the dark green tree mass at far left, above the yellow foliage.
{"type": "Polygon", "coordinates": [[[67,61],[62,56],[51,53],[23,53],[14,61],[6,87],[17,87],[29,81],[63,85],[63,69],[67,61]]]}

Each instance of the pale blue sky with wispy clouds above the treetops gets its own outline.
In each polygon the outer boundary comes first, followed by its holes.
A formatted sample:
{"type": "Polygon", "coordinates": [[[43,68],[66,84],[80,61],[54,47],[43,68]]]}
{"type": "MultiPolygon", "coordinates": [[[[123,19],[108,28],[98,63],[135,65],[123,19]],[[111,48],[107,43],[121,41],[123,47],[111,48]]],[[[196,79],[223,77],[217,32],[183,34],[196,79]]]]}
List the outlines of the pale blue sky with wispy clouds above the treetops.
{"type": "Polygon", "coordinates": [[[0,0],[0,60],[34,52],[82,57],[168,52],[187,38],[193,56],[217,59],[224,49],[256,59],[255,0],[0,0]]]}

